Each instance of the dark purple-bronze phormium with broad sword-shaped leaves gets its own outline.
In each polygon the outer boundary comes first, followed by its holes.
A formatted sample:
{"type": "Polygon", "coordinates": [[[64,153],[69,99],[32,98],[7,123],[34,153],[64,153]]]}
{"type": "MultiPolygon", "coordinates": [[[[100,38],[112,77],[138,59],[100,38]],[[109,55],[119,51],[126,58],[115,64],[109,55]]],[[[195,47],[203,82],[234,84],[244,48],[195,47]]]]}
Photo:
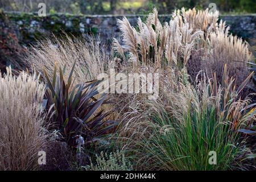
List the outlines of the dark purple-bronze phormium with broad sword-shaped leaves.
{"type": "Polygon", "coordinates": [[[72,74],[75,64],[69,73],[67,82],[64,80],[65,67],[59,69],[55,64],[52,80],[44,72],[47,81],[46,98],[47,110],[51,113],[53,129],[57,129],[63,135],[69,146],[76,147],[76,137],[81,135],[85,144],[96,142],[99,138],[116,126],[117,122],[106,119],[109,112],[99,110],[102,104],[106,104],[106,95],[102,94],[98,99],[97,85],[100,81],[77,84],[73,86],[72,74]]]}

